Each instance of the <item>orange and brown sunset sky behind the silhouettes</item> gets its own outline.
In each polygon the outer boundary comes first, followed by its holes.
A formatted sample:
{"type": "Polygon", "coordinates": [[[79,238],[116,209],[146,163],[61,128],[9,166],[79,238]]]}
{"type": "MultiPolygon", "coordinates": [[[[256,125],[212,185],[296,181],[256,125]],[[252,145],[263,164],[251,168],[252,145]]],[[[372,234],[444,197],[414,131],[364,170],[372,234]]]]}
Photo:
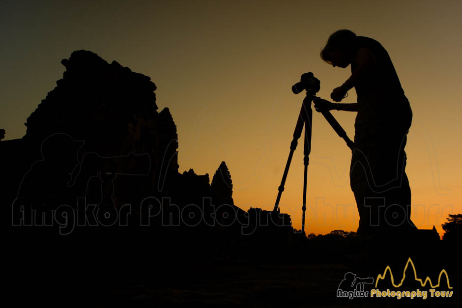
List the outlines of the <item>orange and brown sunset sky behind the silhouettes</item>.
{"type": "MultiPolygon", "coordinates": [[[[378,40],[413,110],[406,146],[412,220],[419,228],[462,212],[462,1],[1,1],[0,128],[6,140],[62,78],[61,59],[90,50],[151,77],[159,110],[178,132],[179,171],[210,179],[226,161],[233,199],[272,209],[303,93],[304,72],[329,98],[350,74],[319,52],[340,28],[378,40]],[[94,2],[94,3],[93,3],[94,2]],[[95,4],[97,3],[97,4],[95,4]]],[[[356,100],[354,90],[343,101],[356,100]]],[[[127,102],[129,103],[129,102],[127,102]]],[[[353,112],[332,114],[354,135],[353,112]]],[[[281,211],[301,228],[303,142],[295,151],[281,211]]],[[[313,115],[306,232],[356,231],[351,153],[313,115]]]]}

